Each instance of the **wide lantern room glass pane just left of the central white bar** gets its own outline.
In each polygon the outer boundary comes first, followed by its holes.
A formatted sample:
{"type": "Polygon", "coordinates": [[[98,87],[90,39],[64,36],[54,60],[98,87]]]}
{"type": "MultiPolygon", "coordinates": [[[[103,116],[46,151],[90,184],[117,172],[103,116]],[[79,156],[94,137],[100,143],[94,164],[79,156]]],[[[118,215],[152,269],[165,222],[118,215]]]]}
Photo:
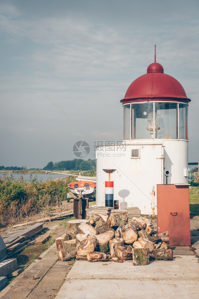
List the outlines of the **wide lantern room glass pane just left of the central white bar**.
{"type": "Polygon", "coordinates": [[[153,138],[153,103],[132,104],[132,138],[153,138]]]}

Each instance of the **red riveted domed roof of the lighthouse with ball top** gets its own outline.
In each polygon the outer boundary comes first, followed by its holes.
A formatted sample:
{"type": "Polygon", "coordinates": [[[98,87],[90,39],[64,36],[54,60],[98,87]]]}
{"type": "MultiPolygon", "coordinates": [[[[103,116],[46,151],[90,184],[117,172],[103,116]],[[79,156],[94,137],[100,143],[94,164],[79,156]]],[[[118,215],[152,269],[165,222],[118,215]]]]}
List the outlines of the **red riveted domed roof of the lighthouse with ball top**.
{"type": "Polygon", "coordinates": [[[145,100],[189,102],[186,93],[178,80],[164,74],[160,63],[153,62],[147,68],[147,74],[135,79],[121,100],[123,104],[145,100]]]}

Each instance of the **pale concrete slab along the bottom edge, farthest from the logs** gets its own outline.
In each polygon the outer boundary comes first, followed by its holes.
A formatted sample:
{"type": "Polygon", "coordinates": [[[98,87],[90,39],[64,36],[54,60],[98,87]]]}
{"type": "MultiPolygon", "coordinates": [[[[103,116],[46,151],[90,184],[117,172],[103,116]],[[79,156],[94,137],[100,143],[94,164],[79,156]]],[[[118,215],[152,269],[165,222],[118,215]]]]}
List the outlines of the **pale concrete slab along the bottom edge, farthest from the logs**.
{"type": "Polygon", "coordinates": [[[56,299],[198,299],[198,287],[187,280],[67,279],[56,299]]]}

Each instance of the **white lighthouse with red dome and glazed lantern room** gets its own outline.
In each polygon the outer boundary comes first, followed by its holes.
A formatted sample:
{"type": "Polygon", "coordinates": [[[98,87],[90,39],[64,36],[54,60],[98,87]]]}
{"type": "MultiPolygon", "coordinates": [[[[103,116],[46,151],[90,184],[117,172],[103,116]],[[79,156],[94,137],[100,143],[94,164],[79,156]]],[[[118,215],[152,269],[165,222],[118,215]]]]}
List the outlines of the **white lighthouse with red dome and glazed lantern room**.
{"type": "Polygon", "coordinates": [[[121,100],[123,141],[96,147],[96,205],[105,206],[103,169],[116,169],[113,199],[120,209],[157,214],[157,185],[188,183],[188,105],[183,86],[151,63],[121,100]]]}

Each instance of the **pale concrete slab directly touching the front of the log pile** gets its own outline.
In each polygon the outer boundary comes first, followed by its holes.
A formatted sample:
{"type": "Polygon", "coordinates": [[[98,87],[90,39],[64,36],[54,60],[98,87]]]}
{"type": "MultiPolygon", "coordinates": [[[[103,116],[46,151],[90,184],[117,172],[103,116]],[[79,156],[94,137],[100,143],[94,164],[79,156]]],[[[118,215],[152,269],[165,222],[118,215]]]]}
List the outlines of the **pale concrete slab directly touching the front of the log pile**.
{"type": "Polygon", "coordinates": [[[199,279],[198,259],[195,256],[177,256],[173,261],[154,261],[147,266],[133,266],[132,260],[124,263],[76,261],[69,279],[199,279]],[[105,265],[104,265],[105,264],[105,265]],[[108,264],[108,265],[106,265],[108,264]]]}

